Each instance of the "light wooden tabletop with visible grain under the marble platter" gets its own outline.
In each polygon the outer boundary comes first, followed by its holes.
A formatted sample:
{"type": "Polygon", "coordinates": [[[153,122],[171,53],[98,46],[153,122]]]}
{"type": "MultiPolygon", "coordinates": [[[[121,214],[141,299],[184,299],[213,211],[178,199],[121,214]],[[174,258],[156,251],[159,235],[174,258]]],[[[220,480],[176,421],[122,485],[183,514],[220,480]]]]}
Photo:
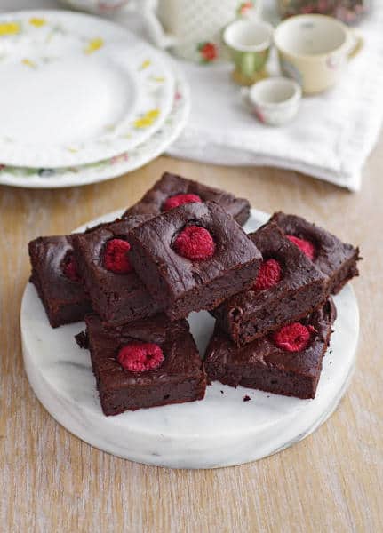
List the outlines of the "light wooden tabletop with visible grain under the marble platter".
{"type": "Polygon", "coordinates": [[[239,170],[167,157],[89,187],[0,187],[0,530],[382,531],[382,168],[383,138],[358,194],[291,171],[239,170]],[[315,434],[257,463],[176,471],[109,456],[59,426],[36,400],[24,374],[19,311],[28,281],[28,241],[68,233],[136,202],[165,170],[247,196],[264,211],[297,212],[361,244],[365,259],[354,287],[362,335],[349,391],[315,434]]]}

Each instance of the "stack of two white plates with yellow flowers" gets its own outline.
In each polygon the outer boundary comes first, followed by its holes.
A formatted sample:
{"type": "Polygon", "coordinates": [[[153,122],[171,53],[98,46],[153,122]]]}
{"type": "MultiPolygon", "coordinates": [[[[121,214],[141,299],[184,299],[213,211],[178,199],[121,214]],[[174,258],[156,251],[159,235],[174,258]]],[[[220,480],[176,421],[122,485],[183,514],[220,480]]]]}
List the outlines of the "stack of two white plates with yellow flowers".
{"type": "Polygon", "coordinates": [[[164,54],[72,12],[0,16],[0,183],[69,187],[148,163],[180,134],[188,87],[164,54]]]}

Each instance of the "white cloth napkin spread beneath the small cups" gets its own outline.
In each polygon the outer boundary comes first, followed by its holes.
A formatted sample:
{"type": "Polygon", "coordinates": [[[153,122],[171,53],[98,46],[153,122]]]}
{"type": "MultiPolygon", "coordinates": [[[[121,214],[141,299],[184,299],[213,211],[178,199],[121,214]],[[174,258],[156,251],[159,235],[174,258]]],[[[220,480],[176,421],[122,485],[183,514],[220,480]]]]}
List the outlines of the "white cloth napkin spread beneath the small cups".
{"type": "MultiPolygon", "coordinates": [[[[58,6],[54,0],[34,4],[58,6]]],[[[357,191],[383,121],[383,0],[371,4],[370,16],[358,27],[365,40],[363,51],[350,61],[334,89],[304,98],[297,118],[283,127],[258,123],[247,111],[231,82],[231,66],[177,60],[191,86],[192,112],[168,153],[206,163],[292,169],[357,191]]],[[[0,11],[11,5],[30,8],[26,0],[4,0],[0,11]]],[[[131,14],[119,16],[124,26],[142,33],[140,20],[131,14]]]]}

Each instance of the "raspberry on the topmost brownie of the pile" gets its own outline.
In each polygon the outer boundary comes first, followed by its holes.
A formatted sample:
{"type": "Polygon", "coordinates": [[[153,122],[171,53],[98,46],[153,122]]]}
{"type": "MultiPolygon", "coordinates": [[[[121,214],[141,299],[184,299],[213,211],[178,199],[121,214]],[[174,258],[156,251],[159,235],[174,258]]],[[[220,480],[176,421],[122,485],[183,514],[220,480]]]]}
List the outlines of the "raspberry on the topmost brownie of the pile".
{"type": "Polygon", "coordinates": [[[214,255],[215,243],[204,227],[188,226],[174,241],[174,250],[184,258],[202,261],[214,255]]]}

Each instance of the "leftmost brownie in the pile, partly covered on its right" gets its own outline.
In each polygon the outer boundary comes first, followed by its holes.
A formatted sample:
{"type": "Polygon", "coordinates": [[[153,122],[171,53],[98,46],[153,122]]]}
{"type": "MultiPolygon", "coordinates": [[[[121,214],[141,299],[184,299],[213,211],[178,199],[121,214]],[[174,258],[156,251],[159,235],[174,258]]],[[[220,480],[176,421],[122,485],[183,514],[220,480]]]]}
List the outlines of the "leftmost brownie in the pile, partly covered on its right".
{"type": "Polygon", "coordinates": [[[78,322],[92,312],[76,270],[73,236],[38,237],[28,245],[32,282],[52,328],[78,322]]]}

